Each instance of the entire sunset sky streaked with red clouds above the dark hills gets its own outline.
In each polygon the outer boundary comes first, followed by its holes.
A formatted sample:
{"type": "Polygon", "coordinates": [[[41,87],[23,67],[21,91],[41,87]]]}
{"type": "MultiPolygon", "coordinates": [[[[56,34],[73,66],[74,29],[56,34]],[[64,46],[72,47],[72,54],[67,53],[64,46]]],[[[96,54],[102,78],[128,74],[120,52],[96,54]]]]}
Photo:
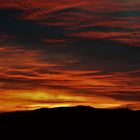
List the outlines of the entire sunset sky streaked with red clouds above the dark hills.
{"type": "Polygon", "coordinates": [[[140,109],[140,0],[1,0],[0,111],[140,109]]]}

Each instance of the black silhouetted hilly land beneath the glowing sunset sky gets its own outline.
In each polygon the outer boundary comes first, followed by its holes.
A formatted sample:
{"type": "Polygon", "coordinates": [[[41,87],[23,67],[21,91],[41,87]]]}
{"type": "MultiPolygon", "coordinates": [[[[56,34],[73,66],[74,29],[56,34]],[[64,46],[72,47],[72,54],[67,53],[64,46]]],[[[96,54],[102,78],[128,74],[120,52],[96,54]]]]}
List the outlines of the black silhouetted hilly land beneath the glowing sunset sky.
{"type": "Polygon", "coordinates": [[[139,118],[139,111],[84,106],[1,113],[0,140],[135,140],[139,118]]]}

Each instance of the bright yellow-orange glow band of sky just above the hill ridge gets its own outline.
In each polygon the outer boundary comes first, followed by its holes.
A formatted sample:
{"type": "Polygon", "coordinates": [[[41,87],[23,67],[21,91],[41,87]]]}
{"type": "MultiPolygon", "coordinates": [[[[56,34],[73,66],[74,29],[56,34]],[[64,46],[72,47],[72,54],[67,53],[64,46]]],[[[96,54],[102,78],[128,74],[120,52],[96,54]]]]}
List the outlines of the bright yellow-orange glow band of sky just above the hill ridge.
{"type": "MultiPolygon", "coordinates": [[[[85,105],[95,108],[113,108],[132,102],[118,101],[106,97],[75,95],[62,91],[12,91],[0,95],[0,111],[32,110],[42,107],[85,105]]],[[[135,108],[133,108],[135,109],[135,108]]]]}

